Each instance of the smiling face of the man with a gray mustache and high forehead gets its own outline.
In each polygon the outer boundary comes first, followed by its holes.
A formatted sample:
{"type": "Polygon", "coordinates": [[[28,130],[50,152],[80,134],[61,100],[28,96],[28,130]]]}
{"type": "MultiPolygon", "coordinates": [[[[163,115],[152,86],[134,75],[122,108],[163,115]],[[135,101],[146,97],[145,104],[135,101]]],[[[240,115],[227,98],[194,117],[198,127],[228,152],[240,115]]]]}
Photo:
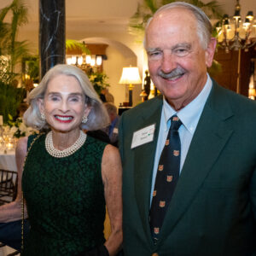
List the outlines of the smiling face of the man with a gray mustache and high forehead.
{"type": "Polygon", "coordinates": [[[148,69],[154,85],[179,110],[201,92],[215,49],[212,39],[201,46],[195,16],[186,9],[169,9],[155,16],[146,31],[148,69]]]}

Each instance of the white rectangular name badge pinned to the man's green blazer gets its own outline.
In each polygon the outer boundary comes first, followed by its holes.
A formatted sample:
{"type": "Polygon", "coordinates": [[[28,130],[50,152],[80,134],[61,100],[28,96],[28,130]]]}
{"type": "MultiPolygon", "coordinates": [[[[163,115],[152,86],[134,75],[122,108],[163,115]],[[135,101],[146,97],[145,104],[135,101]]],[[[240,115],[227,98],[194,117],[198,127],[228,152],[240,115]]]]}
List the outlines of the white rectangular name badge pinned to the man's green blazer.
{"type": "Polygon", "coordinates": [[[155,124],[149,125],[139,131],[135,131],[132,137],[131,148],[136,148],[145,143],[152,142],[154,139],[154,129],[155,124]]]}

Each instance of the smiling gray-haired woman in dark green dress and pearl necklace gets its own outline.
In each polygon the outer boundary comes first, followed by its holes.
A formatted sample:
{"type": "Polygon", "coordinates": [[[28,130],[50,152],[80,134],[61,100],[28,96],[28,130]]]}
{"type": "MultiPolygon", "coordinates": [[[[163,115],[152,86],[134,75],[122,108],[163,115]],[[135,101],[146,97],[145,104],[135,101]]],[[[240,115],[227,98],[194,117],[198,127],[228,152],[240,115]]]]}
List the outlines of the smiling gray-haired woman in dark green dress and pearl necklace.
{"type": "Polygon", "coordinates": [[[27,125],[48,133],[23,137],[16,157],[31,230],[23,255],[114,255],[122,242],[121,163],[113,146],[82,129],[108,124],[85,73],[57,65],[29,95],[27,125]],[[105,241],[105,202],[111,234],[105,241]]]}

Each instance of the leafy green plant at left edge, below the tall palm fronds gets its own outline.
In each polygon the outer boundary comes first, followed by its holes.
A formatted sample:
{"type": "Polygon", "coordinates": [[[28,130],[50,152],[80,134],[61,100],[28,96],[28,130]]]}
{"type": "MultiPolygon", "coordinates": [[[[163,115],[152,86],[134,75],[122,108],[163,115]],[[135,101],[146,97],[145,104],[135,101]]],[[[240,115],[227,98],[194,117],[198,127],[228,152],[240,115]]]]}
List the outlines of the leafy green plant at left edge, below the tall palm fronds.
{"type": "Polygon", "coordinates": [[[3,115],[4,123],[8,121],[9,114],[11,116],[17,115],[17,110],[25,96],[25,89],[15,88],[0,81],[0,115],[3,115]]]}

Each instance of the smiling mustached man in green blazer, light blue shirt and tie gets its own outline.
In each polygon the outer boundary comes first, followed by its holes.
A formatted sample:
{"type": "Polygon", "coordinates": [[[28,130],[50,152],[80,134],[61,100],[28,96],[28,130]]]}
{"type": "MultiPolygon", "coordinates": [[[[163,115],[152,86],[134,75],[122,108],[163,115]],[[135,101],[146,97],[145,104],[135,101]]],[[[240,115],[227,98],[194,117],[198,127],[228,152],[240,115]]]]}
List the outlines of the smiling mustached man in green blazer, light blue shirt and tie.
{"type": "Polygon", "coordinates": [[[189,3],[159,9],[146,28],[163,96],[124,113],[125,256],[256,252],[256,104],[207,74],[216,40],[189,3]]]}

